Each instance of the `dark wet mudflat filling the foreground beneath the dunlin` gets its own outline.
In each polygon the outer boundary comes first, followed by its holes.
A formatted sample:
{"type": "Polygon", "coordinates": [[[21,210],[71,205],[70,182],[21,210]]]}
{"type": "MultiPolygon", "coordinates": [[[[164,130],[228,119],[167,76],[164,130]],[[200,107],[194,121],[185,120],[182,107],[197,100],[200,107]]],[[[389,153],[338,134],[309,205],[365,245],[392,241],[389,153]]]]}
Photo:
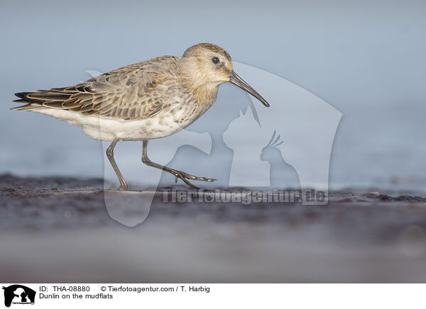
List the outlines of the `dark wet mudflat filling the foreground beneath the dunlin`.
{"type": "Polygon", "coordinates": [[[163,203],[160,193],[127,227],[110,217],[103,186],[1,175],[1,281],[426,281],[422,196],[348,190],[302,206],[163,203]]]}

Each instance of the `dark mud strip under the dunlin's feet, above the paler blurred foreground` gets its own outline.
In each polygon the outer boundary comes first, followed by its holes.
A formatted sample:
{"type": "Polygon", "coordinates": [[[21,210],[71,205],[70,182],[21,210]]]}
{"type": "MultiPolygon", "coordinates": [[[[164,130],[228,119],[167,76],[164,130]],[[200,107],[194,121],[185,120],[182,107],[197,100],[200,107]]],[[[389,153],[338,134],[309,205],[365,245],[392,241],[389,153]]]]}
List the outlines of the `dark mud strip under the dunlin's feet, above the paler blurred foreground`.
{"type": "MultiPolygon", "coordinates": [[[[107,213],[103,186],[103,179],[0,175],[0,229],[115,225],[116,222],[107,213]]],[[[185,186],[173,187],[176,188],[188,191],[185,186]]],[[[221,190],[224,191],[229,189],[221,190]]],[[[107,194],[110,193],[107,191],[107,194]]],[[[170,188],[162,188],[153,198],[148,220],[202,217],[212,222],[249,220],[290,227],[309,223],[359,224],[367,229],[426,224],[426,198],[422,196],[378,192],[329,193],[329,202],[325,206],[302,206],[300,199],[296,197],[295,200],[293,203],[247,204],[205,203],[193,198],[192,203],[178,203],[172,202],[170,188]],[[168,192],[168,203],[164,203],[164,192],[168,192]]]]}

